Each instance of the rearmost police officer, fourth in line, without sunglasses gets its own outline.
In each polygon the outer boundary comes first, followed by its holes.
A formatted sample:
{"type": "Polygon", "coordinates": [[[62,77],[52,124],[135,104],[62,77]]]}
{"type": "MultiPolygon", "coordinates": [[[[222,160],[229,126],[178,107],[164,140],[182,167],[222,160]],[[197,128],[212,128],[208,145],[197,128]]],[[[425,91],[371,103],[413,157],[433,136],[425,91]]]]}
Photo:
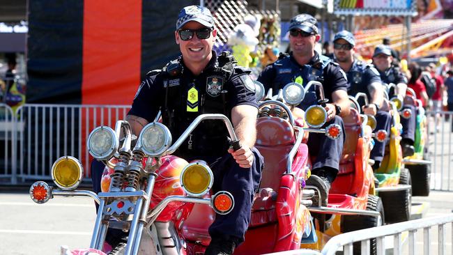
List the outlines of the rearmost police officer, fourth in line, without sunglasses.
{"type": "MultiPolygon", "coordinates": [[[[378,45],[376,49],[374,49],[373,64],[381,75],[382,82],[384,84],[396,84],[394,94],[404,98],[408,87],[408,80],[403,72],[401,72],[401,69],[392,62],[393,57],[389,47],[378,45]]],[[[401,134],[402,139],[400,144],[401,149],[403,150],[403,157],[408,157],[415,152],[413,145],[415,140],[417,114],[413,105],[404,105],[403,109],[410,109],[412,112],[412,115],[409,118],[401,118],[403,133],[401,134]]]]}

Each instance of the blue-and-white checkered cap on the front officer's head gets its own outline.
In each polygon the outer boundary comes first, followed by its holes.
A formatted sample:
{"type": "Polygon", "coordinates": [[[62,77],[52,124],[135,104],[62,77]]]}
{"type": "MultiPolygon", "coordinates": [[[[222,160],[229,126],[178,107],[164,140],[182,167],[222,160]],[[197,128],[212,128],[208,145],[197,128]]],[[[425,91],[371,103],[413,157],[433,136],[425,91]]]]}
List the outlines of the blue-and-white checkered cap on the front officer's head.
{"type": "Polygon", "coordinates": [[[199,22],[208,27],[214,26],[213,15],[208,8],[202,6],[187,6],[179,12],[176,30],[181,29],[184,24],[190,21],[199,22]]]}

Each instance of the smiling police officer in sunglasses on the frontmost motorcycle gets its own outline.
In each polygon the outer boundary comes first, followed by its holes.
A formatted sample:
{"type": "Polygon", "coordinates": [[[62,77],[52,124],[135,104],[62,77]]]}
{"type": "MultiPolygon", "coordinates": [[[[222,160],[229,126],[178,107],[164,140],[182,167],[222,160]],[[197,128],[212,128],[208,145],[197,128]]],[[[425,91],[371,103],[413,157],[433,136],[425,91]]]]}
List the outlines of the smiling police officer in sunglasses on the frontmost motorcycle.
{"type": "Polygon", "coordinates": [[[217,215],[210,226],[211,242],[205,253],[232,254],[244,241],[263,168],[263,157],[254,148],[258,114],[254,83],[249,70],[236,66],[232,56],[217,56],[213,51],[217,30],[207,8],[183,8],[174,35],[181,56],[162,70],[148,72],[126,120],[138,135],[161,111],[162,122],[172,137],[178,138],[200,114],[224,114],[230,118],[240,149],[229,148],[222,121],[205,121],[174,155],[187,161],[206,161],[215,176],[213,190],[226,190],[233,195],[233,210],[217,215]]]}

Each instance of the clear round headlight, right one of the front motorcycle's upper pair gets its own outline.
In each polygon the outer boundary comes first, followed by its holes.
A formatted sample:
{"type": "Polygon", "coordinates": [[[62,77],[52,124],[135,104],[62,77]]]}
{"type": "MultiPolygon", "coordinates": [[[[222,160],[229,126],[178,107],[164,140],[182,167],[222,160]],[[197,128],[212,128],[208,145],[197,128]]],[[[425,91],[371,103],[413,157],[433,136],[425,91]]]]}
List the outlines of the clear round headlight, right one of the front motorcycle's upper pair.
{"type": "Polygon", "coordinates": [[[149,123],[141,130],[139,143],[146,155],[158,157],[171,145],[170,130],[162,123],[149,123]]]}

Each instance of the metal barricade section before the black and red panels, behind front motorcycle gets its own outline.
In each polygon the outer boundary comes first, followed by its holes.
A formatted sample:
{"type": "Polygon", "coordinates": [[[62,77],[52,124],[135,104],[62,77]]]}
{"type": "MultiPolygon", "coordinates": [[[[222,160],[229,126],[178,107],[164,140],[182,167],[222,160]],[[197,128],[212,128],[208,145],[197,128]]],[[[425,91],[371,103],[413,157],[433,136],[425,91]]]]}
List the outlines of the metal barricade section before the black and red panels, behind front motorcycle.
{"type": "Polygon", "coordinates": [[[52,164],[59,157],[77,157],[90,176],[91,156],[86,139],[94,127],[114,128],[125,119],[129,105],[44,105],[26,104],[17,109],[17,178],[49,180],[52,164]]]}

